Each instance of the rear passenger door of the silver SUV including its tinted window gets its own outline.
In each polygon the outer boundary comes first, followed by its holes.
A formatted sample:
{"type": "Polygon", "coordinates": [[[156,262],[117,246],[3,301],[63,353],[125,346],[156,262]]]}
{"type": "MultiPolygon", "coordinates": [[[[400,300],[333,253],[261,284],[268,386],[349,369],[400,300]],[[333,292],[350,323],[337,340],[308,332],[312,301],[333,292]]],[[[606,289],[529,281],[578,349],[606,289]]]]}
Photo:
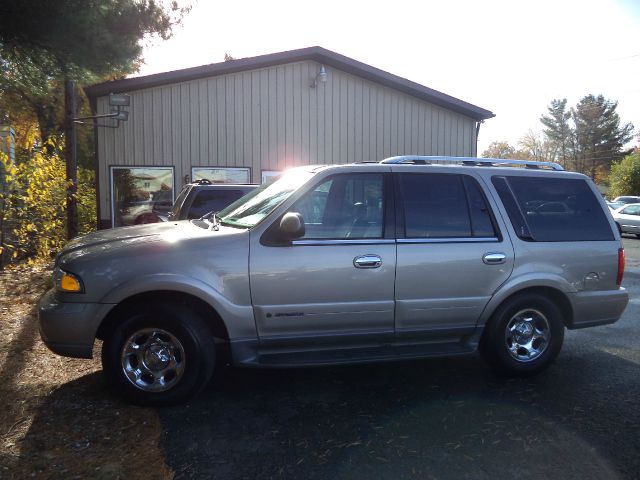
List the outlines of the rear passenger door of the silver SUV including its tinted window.
{"type": "Polygon", "coordinates": [[[410,169],[395,173],[396,334],[471,333],[511,274],[511,242],[476,178],[410,169]]]}

